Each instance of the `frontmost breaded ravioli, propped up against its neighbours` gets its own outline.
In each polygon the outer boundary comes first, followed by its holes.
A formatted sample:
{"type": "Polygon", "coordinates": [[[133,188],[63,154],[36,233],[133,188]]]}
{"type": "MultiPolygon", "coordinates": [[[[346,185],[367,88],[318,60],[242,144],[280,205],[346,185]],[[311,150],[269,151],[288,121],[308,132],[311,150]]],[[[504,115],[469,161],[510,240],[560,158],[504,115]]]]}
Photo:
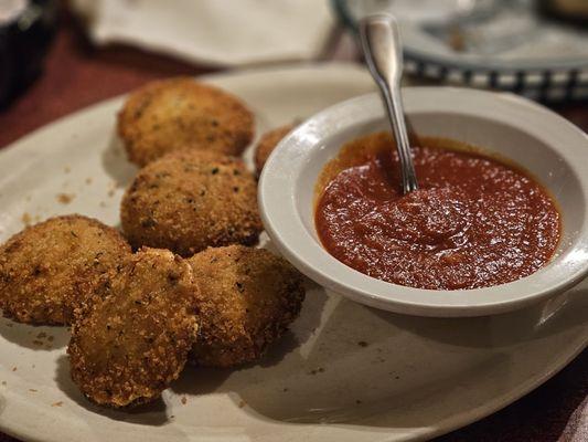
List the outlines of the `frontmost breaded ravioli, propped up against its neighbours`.
{"type": "Polygon", "coordinates": [[[110,295],[72,327],[72,379],[93,402],[129,407],[157,399],[182,371],[196,338],[190,265],[141,249],[111,281],[110,295]]]}

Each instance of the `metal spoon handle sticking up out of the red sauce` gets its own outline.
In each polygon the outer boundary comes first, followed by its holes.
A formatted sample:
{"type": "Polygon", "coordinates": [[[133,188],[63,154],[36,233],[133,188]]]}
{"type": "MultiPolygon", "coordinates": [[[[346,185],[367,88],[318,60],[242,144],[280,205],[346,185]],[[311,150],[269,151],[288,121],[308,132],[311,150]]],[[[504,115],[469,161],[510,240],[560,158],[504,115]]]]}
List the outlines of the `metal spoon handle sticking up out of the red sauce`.
{"type": "Polygon", "coordinates": [[[400,95],[403,49],[398,23],[388,14],[366,17],[360,21],[360,36],[367,67],[379,86],[386,105],[400,158],[403,192],[408,193],[418,189],[418,183],[400,95]]]}

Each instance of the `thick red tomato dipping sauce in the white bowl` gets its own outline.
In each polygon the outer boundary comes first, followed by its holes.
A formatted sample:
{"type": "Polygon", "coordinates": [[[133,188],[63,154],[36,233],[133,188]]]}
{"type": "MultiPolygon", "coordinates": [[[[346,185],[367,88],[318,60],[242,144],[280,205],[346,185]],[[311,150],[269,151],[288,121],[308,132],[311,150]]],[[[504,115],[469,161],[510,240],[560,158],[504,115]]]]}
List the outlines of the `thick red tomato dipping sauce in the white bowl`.
{"type": "Polygon", "coordinates": [[[316,225],[327,251],[378,280],[432,290],[488,287],[545,265],[560,235],[546,190],[522,170],[420,138],[419,190],[403,196],[386,134],[359,138],[323,169],[316,225]]]}

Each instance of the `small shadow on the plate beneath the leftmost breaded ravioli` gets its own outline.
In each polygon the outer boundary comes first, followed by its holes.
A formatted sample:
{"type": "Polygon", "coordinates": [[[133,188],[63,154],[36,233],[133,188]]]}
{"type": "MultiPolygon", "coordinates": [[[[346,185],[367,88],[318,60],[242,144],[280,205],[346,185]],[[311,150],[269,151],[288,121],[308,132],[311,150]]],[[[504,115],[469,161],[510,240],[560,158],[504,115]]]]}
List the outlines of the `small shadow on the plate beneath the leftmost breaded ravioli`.
{"type": "Polygon", "coordinates": [[[9,343],[31,350],[63,348],[70,341],[66,327],[20,324],[8,318],[0,320],[0,335],[9,343]]]}

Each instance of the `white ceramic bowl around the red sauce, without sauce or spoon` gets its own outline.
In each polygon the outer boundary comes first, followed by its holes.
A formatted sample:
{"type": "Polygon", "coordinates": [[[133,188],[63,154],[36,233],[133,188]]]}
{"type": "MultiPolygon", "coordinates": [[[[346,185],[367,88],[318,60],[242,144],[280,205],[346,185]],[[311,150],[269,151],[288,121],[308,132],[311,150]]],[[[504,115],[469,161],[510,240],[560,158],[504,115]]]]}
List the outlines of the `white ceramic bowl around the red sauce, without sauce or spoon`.
{"type": "Polygon", "coordinates": [[[334,105],[290,133],[265,165],[259,204],[279,251],[319,284],[359,303],[423,316],[507,312],[563,293],[588,273],[588,137],[555,113],[510,94],[408,87],[405,110],[419,135],[452,138],[514,160],[556,198],[559,246],[536,273],[507,284],[462,291],[411,288],[364,275],[331,256],[314,228],[313,192],[323,165],[359,136],[386,130],[376,94],[334,105]]]}

